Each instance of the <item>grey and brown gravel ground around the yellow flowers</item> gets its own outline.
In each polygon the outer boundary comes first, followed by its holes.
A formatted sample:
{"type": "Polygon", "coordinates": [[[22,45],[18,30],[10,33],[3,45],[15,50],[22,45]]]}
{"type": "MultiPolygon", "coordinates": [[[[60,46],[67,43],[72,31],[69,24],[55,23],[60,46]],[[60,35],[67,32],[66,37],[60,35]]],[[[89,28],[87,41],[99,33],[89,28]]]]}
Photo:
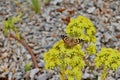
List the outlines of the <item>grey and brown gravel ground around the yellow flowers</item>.
{"type": "MultiPolygon", "coordinates": [[[[35,14],[31,8],[31,0],[0,0],[0,75],[9,79],[24,80],[30,75],[30,80],[59,80],[56,72],[44,69],[43,55],[55,42],[59,35],[65,33],[69,18],[83,15],[88,17],[97,30],[97,49],[111,47],[120,50],[120,0],[51,0],[42,5],[42,13],[35,14]],[[9,40],[4,36],[3,20],[22,13],[22,22],[15,24],[22,33],[23,39],[32,48],[39,69],[24,70],[26,63],[31,62],[31,56],[18,41],[9,40]],[[16,71],[16,72],[14,72],[16,71]]],[[[119,69],[110,71],[108,80],[118,80],[119,69]]],[[[86,69],[83,78],[93,76],[86,69]]],[[[88,79],[86,79],[88,80],[88,79]]]]}

